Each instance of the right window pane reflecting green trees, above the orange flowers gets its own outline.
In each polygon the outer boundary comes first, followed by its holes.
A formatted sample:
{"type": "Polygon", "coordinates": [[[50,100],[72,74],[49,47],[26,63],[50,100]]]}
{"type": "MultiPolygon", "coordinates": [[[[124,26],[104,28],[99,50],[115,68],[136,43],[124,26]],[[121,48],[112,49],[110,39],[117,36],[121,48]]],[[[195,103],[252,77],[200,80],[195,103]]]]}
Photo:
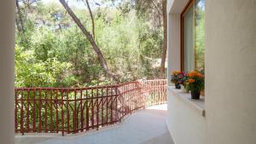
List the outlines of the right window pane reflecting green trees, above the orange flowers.
{"type": "Polygon", "coordinates": [[[195,0],[195,70],[205,67],[205,0],[195,0]]]}

